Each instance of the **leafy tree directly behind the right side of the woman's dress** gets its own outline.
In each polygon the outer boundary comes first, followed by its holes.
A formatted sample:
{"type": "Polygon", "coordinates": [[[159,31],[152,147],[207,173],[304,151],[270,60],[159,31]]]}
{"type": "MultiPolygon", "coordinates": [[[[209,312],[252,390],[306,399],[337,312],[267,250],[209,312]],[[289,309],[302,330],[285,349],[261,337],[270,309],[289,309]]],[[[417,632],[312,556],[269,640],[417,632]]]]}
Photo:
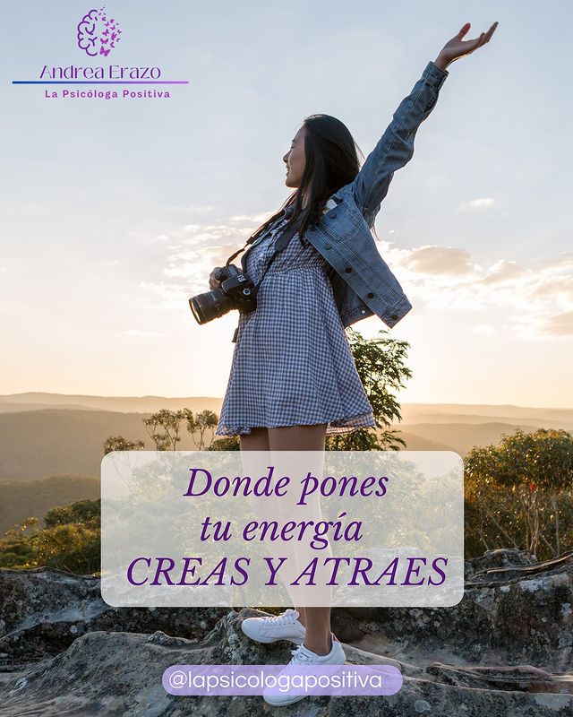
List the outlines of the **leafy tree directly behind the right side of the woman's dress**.
{"type": "Polygon", "coordinates": [[[372,339],[364,339],[352,328],[347,329],[346,335],[378,431],[358,428],[352,433],[327,436],[327,450],[386,451],[406,447],[406,442],[397,435],[399,431],[389,427],[393,420],[402,419],[396,396],[391,392],[403,388],[404,380],[412,377],[404,365],[408,342],[389,338],[389,332],[383,329],[372,339]]]}

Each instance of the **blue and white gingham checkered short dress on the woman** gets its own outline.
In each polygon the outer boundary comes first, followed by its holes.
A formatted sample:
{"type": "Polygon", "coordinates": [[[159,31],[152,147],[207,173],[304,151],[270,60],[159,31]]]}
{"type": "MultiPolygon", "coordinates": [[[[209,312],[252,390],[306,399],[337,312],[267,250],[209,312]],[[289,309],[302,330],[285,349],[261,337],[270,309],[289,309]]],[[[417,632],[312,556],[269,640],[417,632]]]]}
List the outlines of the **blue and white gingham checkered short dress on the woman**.
{"type": "MultiPolygon", "coordinates": [[[[292,207],[245,250],[255,283],[292,207]]],[[[217,436],[326,423],[327,434],[375,427],[329,281],[328,262],[296,233],[240,314],[217,436]]]]}

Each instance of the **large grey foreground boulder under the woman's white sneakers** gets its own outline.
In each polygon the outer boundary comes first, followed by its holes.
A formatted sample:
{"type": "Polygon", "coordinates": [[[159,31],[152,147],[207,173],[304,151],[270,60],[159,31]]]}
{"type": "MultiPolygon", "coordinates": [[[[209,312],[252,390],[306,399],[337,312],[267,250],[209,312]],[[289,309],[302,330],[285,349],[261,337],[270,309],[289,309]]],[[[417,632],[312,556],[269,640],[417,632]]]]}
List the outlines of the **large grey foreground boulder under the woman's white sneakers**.
{"type": "MultiPolygon", "coordinates": [[[[243,635],[244,618],[256,610],[231,610],[204,636],[201,643],[156,631],[152,635],[96,632],[78,637],[56,657],[30,666],[0,687],[3,717],[41,714],[138,715],[138,717],[258,717],[270,708],[260,695],[180,696],[161,684],[174,664],[282,664],[292,644],[263,645],[243,635]]],[[[344,645],[353,664],[392,664],[402,670],[404,684],[396,695],[307,697],[288,707],[293,717],[571,717],[573,682],[542,670],[516,666],[507,669],[451,669],[403,665],[344,645]],[[502,678],[500,678],[502,676],[502,678]]]]}

